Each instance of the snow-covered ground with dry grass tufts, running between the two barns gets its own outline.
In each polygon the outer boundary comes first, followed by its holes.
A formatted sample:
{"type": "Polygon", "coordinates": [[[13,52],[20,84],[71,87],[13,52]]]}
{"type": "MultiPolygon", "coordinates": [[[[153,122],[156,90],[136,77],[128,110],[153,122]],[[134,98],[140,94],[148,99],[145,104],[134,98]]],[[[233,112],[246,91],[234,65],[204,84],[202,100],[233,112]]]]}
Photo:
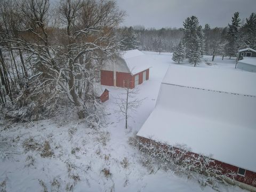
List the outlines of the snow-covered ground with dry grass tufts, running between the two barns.
{"type": "MultiPolygon", "coordinates": [[[[51,119],[7,128],[0,122],[1,191],[214,191],[197,181],[175,175],[170,170],[143,166],[137,147],[129,144],[153,110],[158,90],[169,65],[170,53],[145,52],[152,68],[149,81],[138,86],[142,105],[129,119],[118,111],[116,99],[124,90],[108,87],[106,126],[90,129],[84,121],[51,119]],[[49,145],[47,145],[49,142],[49,145]],[[45,144],[46,143],[46,144],[45,144]]],[[[189,65],[184,62],[180,65],[189,65]]],[[[236,70],[235,60],[205,56],[197,67],[236,70]],[[205,61],[206,60],[206,61],[205,61]],[[208,64],[207,64],[208,63],[208,64]]],[[[243,191],[220,186],[220,191],[243,191]]]]}

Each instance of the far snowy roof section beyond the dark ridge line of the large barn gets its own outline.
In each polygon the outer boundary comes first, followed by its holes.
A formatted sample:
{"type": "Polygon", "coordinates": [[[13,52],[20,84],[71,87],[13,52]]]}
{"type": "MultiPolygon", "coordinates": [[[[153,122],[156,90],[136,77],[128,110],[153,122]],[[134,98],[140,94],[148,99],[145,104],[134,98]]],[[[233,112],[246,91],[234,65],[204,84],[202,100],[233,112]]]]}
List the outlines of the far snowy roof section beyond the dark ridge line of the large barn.
{"type": "Polygon", "coordinates": [[[171,66],[163,83],[256,96],[256,76],[246,71],[171,66]]]}

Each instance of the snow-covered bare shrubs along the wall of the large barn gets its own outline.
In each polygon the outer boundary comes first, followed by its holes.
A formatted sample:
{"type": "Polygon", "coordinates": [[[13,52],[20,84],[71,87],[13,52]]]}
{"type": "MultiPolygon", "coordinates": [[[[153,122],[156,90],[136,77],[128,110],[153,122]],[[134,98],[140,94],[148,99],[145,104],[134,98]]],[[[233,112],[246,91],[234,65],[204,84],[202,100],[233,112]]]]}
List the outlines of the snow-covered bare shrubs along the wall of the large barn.
{"type": "Polygon", "coordinates": [[[185,173],[188,178],[198,180],[202,187],[211,186],[218,190],[218,183],[227,184],[226,178],[233,178],[235,174],[223,170],[215,163],[211,156],[194,154],[186,145],[170,146],[145,138],[138,138],[140,151],[147,155],[147,162],[161,161],[175,173],[185,173]]]}

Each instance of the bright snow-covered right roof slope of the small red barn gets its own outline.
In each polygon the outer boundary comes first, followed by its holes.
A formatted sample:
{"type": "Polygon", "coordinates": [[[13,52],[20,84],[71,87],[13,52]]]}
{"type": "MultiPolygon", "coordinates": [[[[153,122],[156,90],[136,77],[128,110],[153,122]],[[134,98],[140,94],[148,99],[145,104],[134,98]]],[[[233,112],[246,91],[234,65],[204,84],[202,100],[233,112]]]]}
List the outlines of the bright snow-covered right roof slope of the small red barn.
{"type": "Polygon", "coordinates": [[[132,75],[138,74],[150,68],[150,60],[147,55],[139,50],[130,50],[123,52],[122,58],[125,60],[127,67],[132,75]]]}

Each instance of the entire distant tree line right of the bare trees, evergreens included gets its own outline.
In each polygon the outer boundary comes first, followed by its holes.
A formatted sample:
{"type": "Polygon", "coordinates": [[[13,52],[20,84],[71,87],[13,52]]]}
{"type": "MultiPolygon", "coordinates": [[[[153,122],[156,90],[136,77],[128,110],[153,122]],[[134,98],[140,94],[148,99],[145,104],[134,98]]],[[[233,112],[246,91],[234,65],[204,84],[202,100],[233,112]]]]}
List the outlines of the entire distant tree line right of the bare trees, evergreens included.
{"type": "Polygon", "coordinates": [[[145,29],[143,26],[122,27],[123,50],[140,49],[156,52],[174,52],[173,59],[181,62],[188,59],[197,65],[202,55],[235,57],[238,49],[256,49],[256,13],[241,22],[235,12],[227,27],[211,28],[199,25],[195,16],[183,22],[183,28],[145,29]]]}

